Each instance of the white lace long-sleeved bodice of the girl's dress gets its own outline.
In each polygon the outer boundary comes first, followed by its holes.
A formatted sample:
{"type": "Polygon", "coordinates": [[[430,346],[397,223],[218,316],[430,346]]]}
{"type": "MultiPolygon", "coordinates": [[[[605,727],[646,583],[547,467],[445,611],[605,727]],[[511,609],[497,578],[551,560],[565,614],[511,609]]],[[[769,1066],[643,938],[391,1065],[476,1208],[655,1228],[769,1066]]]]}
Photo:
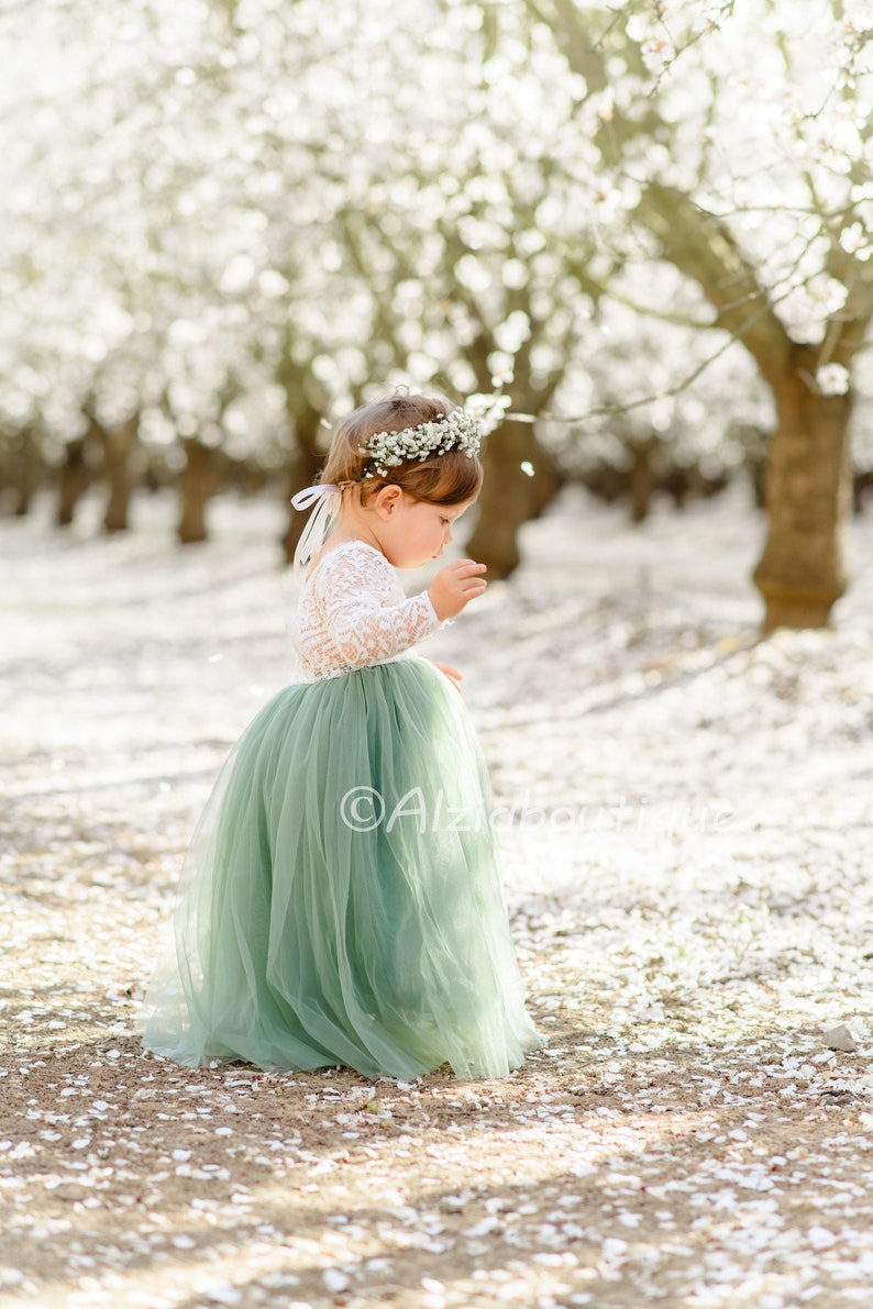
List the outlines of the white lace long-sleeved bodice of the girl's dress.
{"type": "Polygon", "coordinates": [[[293,640],[312,679],[415,656],[440,627],[427,592],[404,596],[385,555],[346,541],[310,569],[300,592],[293,640]]]}

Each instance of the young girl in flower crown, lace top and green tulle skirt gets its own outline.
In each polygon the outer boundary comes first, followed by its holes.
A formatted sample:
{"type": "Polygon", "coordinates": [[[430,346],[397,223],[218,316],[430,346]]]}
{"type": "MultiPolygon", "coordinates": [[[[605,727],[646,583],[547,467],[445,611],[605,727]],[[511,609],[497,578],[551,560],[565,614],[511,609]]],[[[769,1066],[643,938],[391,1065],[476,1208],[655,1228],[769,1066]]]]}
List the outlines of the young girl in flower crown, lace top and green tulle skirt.
{"type": "Polygon", "coordinates": [[[444,401],[377,401],[294,496],[317,504],[294,560],[308,679],[257,715],[198,826],[145,1001],[157,1054],[471,1079],[539,1043],[458,674],[414,648],[482,594],[484,567],[450,563],[408,600],[394,575],[452,541],[479,439],[444,401]]]}

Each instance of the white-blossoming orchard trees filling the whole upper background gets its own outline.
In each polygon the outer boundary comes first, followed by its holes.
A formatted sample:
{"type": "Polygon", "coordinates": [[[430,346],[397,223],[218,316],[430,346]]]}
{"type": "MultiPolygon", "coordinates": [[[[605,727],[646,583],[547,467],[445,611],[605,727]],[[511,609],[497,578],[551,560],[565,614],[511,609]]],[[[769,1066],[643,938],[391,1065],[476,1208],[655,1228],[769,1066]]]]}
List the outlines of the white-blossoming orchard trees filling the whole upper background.
{"type": "Polygon", "coordinates": [[[497,393],[492,576],[568,479],[643,522],[747,476],[766,626],[826,622],[873,469],[869,17],[4,8],[0,508],[46,487],[68,525],[99,480],[118,531],[173,484],[200,541],[212,495],[289,496],[374,393],[497,393]]]}

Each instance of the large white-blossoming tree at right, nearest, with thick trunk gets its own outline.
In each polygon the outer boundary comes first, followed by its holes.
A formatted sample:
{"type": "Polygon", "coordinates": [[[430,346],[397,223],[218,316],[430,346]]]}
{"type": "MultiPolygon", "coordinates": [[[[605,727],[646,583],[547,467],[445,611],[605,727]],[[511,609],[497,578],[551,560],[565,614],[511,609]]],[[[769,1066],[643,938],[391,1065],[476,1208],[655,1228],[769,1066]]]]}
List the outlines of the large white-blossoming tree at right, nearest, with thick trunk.
{"type": "MultiPolygon", "coordinates": [[[[597,224],[611,255],[594,280],[635,250],[666,259],[749,352],[775,412],[766,627],[823,623],[846,588],[852,368],[873,318],[869,5],[521,8],[581,82],[568,173],[580,229],[597,224]]],[[[520,5],[499,12],[521,21],[520,5]]]]}

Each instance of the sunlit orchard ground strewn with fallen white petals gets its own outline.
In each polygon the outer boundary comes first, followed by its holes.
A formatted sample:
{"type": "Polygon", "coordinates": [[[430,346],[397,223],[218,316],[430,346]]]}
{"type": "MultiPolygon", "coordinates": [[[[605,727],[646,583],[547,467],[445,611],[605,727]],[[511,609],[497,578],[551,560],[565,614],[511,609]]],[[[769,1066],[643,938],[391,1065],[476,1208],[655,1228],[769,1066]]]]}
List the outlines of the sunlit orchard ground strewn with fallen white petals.
{"type": "Polygon", "coordinates": [[[0,524],[0,1304],[870,1302],[873,520],[835,628],[764,643],[739,491],[526,529],[423,652],[465,673],[548,1043],[370,1084],[132,1031],[211,781],[293,675],[284,509],[179,551],[160,497],[113,539],[38,508],[0,524]]]}

